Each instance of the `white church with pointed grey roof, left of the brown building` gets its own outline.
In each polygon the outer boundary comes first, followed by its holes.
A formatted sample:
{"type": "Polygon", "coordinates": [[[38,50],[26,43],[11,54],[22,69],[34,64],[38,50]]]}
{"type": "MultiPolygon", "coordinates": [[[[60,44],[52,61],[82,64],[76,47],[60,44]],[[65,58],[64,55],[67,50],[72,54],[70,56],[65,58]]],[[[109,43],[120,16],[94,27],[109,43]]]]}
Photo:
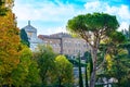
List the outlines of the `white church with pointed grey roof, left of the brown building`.
{"type": "Polygon", "coordinates": [[[34,26],[30,25],[30,21],[28,21],[28,25],[23,27],[23,29],[25,29],[27,36],[28,36],[28,40],[30,42],[30,49],[32,51],[36,51],[38,48],[38,45],[43,44],[43,40],[39,39],[37,37],[37,28],[35,28],[34,26]]]}

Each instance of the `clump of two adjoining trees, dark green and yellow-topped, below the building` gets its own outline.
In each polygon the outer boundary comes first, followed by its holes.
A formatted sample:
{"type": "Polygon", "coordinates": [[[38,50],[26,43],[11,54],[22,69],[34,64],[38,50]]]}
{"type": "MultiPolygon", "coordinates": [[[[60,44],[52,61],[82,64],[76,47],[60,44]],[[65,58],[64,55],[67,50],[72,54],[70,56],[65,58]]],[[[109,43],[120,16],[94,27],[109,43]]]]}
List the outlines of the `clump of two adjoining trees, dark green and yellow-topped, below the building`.
{"type": "Polygon", "coordinates": [[[34,52],[34,59],[40,69],[39,74],[43,86],[73,85],[73,64],[64,57],[53,52],[50,46],[39,46],[34,52]]]}

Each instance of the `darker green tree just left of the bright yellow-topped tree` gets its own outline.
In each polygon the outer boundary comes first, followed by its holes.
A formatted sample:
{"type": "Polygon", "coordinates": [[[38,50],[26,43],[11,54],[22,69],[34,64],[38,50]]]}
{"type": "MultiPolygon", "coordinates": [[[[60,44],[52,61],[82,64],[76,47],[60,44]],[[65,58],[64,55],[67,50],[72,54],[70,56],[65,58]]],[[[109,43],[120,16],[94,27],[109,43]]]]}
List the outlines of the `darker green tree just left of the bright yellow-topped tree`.
{"type": "Polygon", "coordinates": [[[38,63],[40,69],[40,77],[43,85],[53,84],[55,63],[54,63],[55,53],[52,48],[49,46],[39,46],[39,50],[34,52],[34,59],[38,63]]]}

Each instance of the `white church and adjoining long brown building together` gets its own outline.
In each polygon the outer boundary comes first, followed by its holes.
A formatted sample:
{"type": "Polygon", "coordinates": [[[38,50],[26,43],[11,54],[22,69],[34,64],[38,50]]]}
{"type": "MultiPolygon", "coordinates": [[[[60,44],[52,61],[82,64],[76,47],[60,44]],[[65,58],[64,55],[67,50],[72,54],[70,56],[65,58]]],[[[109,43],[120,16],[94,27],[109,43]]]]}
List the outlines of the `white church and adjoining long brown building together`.
{"type": "Polygon", "coordinates": [[[32,51],[38,50],[38,45],[49,45],[55,53],[69,57],[77,57],[79,52],[83,57],[86,51],[90,51],[89,45],[83,39],[74,38],[66,33],[37,36],[37,28],[30,25],[30,21],[28,21],[28,25],[23,27],[23,29],[25,29],[28,36],[32,51]]]}

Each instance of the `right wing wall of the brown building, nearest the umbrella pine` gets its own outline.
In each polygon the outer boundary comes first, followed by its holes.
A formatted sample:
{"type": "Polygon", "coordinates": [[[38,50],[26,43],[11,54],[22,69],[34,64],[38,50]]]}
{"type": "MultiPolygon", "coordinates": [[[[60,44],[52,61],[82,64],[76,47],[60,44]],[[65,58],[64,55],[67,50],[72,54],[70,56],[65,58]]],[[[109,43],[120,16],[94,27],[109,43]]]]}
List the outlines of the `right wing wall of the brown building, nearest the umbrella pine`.
{"type": "Polygon", "coordinates": [[[63,38],[63,54],[68,55],[83,55],[86,51],[89,51],[89,46],[83,39],[79,38],[63,38]]]}

